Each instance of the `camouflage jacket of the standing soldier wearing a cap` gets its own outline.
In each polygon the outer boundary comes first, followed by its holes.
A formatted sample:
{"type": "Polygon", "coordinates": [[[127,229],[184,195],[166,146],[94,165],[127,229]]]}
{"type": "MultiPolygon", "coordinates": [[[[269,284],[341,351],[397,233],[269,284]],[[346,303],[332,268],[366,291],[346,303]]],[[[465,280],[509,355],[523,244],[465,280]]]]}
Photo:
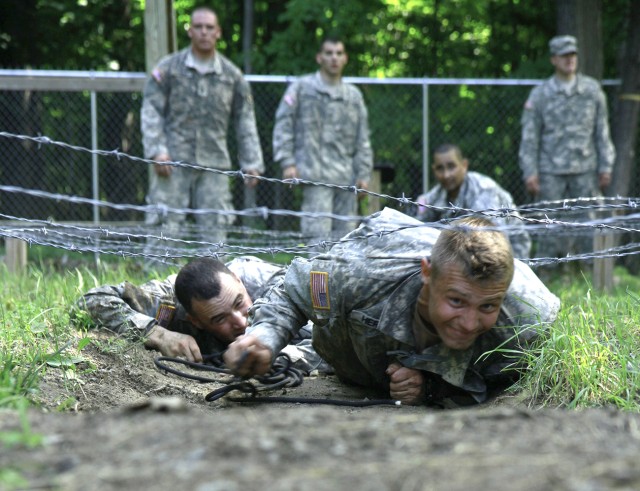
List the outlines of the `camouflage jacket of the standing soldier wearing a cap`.
{"type": "Polygon", "coordinates": [[[577,75],[567,94],[551,77],[524,106],[519,161],[525,179],[539,173],[611,172],[615,149],[600,84],[577,75]]]}

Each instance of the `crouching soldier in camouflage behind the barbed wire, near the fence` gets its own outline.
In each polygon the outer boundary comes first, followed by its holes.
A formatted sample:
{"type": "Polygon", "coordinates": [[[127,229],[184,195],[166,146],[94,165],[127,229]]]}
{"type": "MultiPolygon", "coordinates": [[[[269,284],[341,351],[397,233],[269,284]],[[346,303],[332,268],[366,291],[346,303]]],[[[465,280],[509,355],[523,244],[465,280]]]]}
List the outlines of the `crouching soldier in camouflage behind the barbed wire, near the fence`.
{"type": "MultiPolygon", "coordinates": [[[[469,172],[469,161],[464,158],[457,145],[443,144],[436,148],[431,168],[438,180],[428,193],[418,196],[420,205],[430,205],[438,208],[465,208],[468,210],[490,210],[516,208],[511,194],[484,174],[469,172]]],[[[461,212],[465,214],[466,212],[461,212]]],[[[416,218],[423,222],[437,222],[443,218],[453,218],[453,209],[437,210],[426,206],[418,206],[416,218]]],[[[513,254],[520,259],[526,259],[531,252],[531,239],[524,230],[524,223],[518,212],[512,213],[513,218],[491,217],[496,225],[511,227],[508,233],[513,254]]]]}

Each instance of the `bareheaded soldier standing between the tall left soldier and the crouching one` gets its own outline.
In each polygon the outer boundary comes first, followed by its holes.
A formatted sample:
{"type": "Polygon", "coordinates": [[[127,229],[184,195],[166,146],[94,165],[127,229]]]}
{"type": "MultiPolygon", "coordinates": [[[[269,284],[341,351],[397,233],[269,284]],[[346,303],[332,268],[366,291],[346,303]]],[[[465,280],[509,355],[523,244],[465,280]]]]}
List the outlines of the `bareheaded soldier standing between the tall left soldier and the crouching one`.
{"type": "MultiPolygon", "coordinates": [[[[347,63],[344,44],[325,39],[316,55],[320,70],[286,90],[273,129],[274,160],[285,179],[367,189],[373,167],[367,108],[362,93],[342,81],[347,63]]],[[[356,195],[323,186],[303,188],[302,211],[356,215],[356,195]]],[[[303,217],[300,227],[311,240],[339,238],[353,221],[303,217]]]]}

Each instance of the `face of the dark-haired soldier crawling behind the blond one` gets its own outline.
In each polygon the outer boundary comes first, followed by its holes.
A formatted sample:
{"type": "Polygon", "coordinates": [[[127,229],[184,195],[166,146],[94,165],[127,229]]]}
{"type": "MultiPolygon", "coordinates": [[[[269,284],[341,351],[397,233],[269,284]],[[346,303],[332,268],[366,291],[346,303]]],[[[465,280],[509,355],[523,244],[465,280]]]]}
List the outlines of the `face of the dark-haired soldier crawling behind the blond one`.
{"type": "Polygon", "coordinates": [[[220,273],[220,285],[217,297],[191,302],[189,317],[196,327],[229,344],[247,329],[249,308],[253,303],[235,275],[220,273]]]}

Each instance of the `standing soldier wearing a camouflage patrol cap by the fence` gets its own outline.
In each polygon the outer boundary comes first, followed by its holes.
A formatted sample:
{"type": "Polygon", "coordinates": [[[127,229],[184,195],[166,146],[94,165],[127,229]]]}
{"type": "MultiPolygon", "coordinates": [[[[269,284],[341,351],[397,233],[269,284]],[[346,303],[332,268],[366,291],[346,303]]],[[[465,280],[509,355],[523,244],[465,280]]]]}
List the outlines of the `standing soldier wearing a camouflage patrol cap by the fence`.
{"type": "MultiPolygon", "coordinates": [[[[519,160],[525,186],[542,201],[596,197],[609,186],[615,160],[607,101],[596,80],[577,73],[573,36],[556,36],[549,48],[555,74],[531,91],[522,115],[519,160]]],[[[567,242],[544,236],[536,255],[564,256],[567,242]]],[[[582,240],[579,252],[590,246],[582,240]]]]}

